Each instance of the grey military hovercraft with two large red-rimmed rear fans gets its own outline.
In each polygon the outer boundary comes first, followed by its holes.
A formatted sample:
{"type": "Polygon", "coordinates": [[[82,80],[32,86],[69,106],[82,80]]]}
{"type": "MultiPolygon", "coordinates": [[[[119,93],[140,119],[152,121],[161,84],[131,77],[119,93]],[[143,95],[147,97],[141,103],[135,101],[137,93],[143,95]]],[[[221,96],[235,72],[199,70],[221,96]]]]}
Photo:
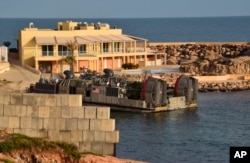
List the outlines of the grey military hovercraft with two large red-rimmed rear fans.
{"type": "Polygon", "coordinates": [[[82,74],[76,78],[65,71],[65,79],[40,79],[30,85],[31,93],[82,94],[83,103],[110,106],[112,110],[132,112],[159,112],[197,107],[198,81],[180,76],[173,89],[158,78],[149,77],[143,82],[131,82],[117,77],[110,69],[104,75],[82,74]]]}

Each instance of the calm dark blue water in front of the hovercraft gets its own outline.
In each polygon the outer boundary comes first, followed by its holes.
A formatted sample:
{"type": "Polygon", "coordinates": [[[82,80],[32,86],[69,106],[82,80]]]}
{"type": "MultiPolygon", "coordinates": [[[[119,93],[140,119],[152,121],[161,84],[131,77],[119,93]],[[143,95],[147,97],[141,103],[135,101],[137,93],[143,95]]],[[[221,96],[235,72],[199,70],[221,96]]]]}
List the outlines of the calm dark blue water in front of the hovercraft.
{"type": "Polygon", "coordinates": [[[112,112],[117,156],[151,163],[229,162],[230,146],[250,146],[250,91],[199,93],[198,109],[112,112]]]}

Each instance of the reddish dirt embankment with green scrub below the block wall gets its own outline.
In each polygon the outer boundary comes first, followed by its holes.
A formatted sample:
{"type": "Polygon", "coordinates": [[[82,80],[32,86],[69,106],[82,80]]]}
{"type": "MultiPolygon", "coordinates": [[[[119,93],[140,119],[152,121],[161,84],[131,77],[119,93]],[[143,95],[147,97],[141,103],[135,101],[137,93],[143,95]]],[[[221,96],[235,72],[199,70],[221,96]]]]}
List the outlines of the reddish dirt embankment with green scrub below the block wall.
{"type": "Polygon", "coordinates": [[[82,154],[72,144],[50,142],[0,130],[0,163],[145,163],[112,156],[82,154]]]}

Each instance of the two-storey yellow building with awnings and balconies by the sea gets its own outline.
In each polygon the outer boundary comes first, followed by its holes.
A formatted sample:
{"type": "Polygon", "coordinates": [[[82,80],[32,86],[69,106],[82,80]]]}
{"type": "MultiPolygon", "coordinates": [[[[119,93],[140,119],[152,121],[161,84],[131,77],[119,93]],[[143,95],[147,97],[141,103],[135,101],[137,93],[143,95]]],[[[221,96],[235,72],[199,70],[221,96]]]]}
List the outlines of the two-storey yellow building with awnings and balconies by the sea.
{"type": "Polygon", "coordinates": [[[74,72],[80,67],[102,72],[124,63],[147,65],[152,55],[146,50],[146,39],[125,35],[105,23],[58,22],[57,29],[39,29],[30,23],[18,37],[21,64],[47,73],[70,69],[67,56],[74,56],[74,72]],[[69,43],[77,44],[73,52],[69,43]]]}

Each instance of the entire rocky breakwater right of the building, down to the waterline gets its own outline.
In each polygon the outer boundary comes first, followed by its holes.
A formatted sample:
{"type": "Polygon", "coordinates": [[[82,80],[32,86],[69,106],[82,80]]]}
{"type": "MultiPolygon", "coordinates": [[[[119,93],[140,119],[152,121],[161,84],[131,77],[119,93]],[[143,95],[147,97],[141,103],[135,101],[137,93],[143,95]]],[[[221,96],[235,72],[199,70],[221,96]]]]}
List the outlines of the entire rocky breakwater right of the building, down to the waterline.
{"type": "MultiPolygon", "coordinates": [[[[250,43],[151,43],[149,48],[165,54],[164,63],[179,64],[181,73],[210,79],[214,77],[214,80],[199,81],[200,91],[250,89],[250,81],[245,78],[250,73],[250,43]],[[228,74],[237,74],[238,78],[218,80],[228,74]]],[[[169,77],[162,76],[165,79],[169,77]]]]}

